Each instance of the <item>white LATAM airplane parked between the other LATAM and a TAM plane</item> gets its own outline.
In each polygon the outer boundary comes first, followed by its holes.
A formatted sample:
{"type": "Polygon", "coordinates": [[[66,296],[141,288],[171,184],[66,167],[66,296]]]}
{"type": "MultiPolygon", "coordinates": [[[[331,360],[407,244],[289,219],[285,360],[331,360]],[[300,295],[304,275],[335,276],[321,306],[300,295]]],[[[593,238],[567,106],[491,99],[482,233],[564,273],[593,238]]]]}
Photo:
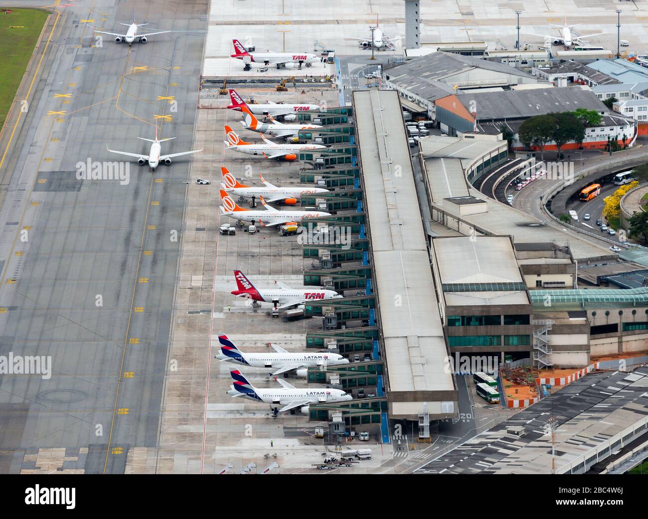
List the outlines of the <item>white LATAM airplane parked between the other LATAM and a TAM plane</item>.
{"type": "Polygon", "coordinates": [[[267,353],[244,353],[240,351],[234,343],[227,338],[224,333],[218,336],[220,342],[220,355],[216,359],[223,362],[237,362],[251,368],[272,368],[270,375],[281,375],[286,371],[295,370],[297,377],[305,379],[308,368],[316,366],[328,366],[334,364],[349,364],[349,359],[345,359],[340,353],[290,353],[281,346],[270,344],[275,350],[267,353]]]}

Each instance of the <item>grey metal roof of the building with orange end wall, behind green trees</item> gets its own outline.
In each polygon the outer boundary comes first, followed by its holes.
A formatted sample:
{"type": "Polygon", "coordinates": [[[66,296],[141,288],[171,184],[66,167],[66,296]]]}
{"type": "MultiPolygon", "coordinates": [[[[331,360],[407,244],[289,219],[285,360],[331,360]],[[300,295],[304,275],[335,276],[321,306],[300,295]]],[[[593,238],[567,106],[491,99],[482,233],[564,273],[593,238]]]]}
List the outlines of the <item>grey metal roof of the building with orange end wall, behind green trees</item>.
{"type": "Polygon", "coordinates": [[[459,94],[467,110],[477,107],[478,120],[515,119],[577,108],[607,113],[608,107],[589,88],[556,87],[533,90],[459,94]]]}

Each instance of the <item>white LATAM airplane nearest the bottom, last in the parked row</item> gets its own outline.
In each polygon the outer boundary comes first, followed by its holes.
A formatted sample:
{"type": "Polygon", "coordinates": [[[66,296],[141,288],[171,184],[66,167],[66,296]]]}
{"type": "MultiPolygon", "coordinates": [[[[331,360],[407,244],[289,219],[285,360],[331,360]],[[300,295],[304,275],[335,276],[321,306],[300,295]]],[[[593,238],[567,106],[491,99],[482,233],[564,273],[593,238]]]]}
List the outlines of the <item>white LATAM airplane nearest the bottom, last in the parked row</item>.
{"type": "Polygon", "coordinates": [[[332,388],[297,389],[282,379],[277,379],[277,382],[281,384],[281,388],[259,389],[250,384],[240,371],[232,370],[229,373],[234,383],[231,386],[231,390],[227,392],[228,395],[270,404],[274,414],[286,411],[293,412],[293,410],[299,408],[302,414],[307,415],[310,411],[310,404],[347,402],[353,400],[351,395],[342,390],[332,388]],[[283,407],[277,409],[280,405],[283,407]]]}

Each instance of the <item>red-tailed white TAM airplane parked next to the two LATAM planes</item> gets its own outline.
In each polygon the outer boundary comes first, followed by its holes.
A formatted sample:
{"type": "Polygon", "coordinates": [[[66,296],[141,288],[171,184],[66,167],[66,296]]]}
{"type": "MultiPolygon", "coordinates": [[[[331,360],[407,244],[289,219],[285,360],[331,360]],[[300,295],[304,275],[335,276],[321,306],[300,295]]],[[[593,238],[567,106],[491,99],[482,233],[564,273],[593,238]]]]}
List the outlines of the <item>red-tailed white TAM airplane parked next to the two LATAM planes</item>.
{"type": "Polygon", "coordinates": [[[237,280],[238,288],[232,291],[233,295],[251,299],[259,303],[274,304],[273,302],[276,301],[280,305],[277,307],[277,310],[301,305],[307,301],[322,301],[343,297],[334,290],[323,289],[321,287],[291,289],[279,281],[275,281],[275,285],[278,287],[276,289],[256,289],[241,271],[234,271],[234,278],[237,280]]]}

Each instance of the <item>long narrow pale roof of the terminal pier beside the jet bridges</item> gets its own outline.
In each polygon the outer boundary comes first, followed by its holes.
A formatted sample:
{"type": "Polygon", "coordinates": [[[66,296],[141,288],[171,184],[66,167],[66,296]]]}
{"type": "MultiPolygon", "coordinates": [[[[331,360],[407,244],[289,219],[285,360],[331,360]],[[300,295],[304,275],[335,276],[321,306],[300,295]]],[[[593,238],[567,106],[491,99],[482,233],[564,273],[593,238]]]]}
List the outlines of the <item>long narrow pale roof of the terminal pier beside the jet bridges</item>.
{"type": "MultiPolygon", "coordinates": [[[[456,388],[448,369],[410,148],[396,91],[355,91],[353,103],[389,391],[420,392],[406,393],[404,401],[393,403],[391,414],[410,414],[412,409],[416,414],[430,398],[426,392],[456,388]],[[394,304],[397,300],[400,304],[394,304]]],[[[441,402],[428,401],[428,409],[440,414],[441,402]]]]}

